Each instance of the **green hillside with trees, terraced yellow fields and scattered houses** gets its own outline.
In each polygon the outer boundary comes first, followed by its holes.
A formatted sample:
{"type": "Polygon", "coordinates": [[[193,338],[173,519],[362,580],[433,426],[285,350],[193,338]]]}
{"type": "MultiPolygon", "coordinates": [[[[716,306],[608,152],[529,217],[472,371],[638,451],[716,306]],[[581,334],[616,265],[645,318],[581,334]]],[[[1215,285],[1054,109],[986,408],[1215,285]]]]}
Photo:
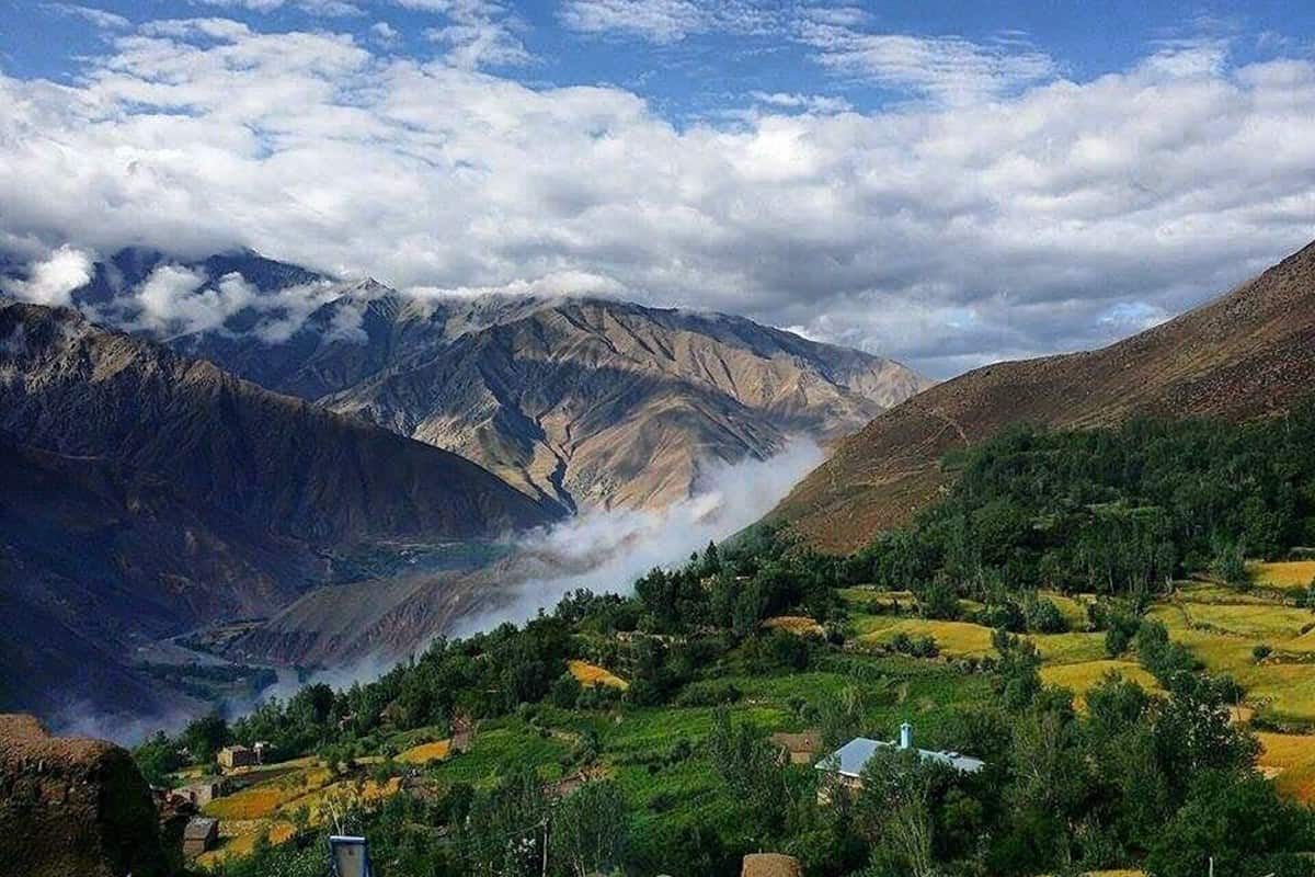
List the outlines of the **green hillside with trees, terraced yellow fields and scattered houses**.
{"type": "Polygon", "coordinates": [[[1312,438],[1310,413],[1015,429],[847,557],[750,533],[138,759],[313,756],[216,805],[250,817],[203,863],[230,876],[318,874],[330,814],[381,877],[730,874],[764,849],[819,876],[1310,874],[1312,438]],[[903,722],[985,768],[892,749],[848,793],[814,769],[903,722]]]}

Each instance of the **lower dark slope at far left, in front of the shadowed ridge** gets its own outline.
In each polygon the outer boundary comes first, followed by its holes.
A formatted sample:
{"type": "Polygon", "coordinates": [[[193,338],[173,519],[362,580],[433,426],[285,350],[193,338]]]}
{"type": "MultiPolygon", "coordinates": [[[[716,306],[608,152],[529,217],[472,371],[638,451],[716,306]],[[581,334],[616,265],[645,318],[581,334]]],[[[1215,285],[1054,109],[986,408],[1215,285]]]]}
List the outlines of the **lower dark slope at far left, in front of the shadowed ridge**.
{"type": "Polygon", "coordinates": [[[0,638],[0,709],[172,711],[137,646],[272,613],[327,571],[158,476],[0,439],[0,611],[22,619],[0,638]]]}

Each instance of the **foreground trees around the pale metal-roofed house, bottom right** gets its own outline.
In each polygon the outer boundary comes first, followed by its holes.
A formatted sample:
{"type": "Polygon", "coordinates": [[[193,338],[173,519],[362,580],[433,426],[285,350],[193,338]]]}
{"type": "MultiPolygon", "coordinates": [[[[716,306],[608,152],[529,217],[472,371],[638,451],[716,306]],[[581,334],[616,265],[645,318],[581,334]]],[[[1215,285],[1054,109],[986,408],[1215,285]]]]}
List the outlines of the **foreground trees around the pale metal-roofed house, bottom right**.
{"type": "MultiPolygon", "coordinates": [[[[960,774],[880,749],[857,792],[828,789],[773,757],[722,714],[707,751],[739,810],[743,843],[786,849],[809,873],[861,877],[1078,874],[1141,863],[1155,877],[1315,874],[1315,817],[1255,767],[1258,746],[1230,721],[1230,690],[1178,672],[1165,696],[1110,676],[1074,709],[1041,685],[1035,650],[997,635],[998,706],[940,734],[986,761],[960,774]]],[[[822,782],[830,782],[822,780],[822,782]]]]}

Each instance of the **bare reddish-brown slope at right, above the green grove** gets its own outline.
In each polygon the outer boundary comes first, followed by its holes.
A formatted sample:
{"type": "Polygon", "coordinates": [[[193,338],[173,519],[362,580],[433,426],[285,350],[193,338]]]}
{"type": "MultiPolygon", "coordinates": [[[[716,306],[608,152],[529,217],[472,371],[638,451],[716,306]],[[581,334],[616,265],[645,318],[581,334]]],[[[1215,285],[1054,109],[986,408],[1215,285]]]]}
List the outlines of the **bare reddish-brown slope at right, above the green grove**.
{"type": "Polygon", "coordinates": [[[939,459],[1018,421],[1273,415],[1315,392],[1315,245],[1227,296],[1094,352],[980,368],[846,439],[768,519],[851,551],[926,506],[939,459]]]}

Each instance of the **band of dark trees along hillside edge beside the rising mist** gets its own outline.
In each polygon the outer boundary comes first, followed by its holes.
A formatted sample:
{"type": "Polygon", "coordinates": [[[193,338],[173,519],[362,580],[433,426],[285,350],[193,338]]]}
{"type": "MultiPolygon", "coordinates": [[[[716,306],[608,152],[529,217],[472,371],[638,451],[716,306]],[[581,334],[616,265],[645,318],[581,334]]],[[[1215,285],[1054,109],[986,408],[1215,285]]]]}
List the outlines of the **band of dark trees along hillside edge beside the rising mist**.
{"type": "Polygon", "coordinates": [[[634,596],[575,592],[521,627],[505,623],[462,640],[439,639],[372,682],[343,690],[306,685],[287,699],[264,699],[231,723],[218,713],[203,717],[178,736],[149,739],[137,757],[155,782],[184,763],[213,761],[230,743],[263,740],[274,759],[320,752],[343,764],[385,749],[384,736],[393,731],[443,728],[456,717],[506,715],[546,699],[592,709],[621,697],[583,688],[567,669],[577,656],[625,675],[625,697],[640,706],[673,699],[704,668],[732,655],[744,672],[803,669],[821,643],[763,630],[761,622],[788,610],[836,617],[834,565],[813,555],[788,556],[771,533],[735,547],[709,544],[675,571],[643,576],[634,596]]]}

